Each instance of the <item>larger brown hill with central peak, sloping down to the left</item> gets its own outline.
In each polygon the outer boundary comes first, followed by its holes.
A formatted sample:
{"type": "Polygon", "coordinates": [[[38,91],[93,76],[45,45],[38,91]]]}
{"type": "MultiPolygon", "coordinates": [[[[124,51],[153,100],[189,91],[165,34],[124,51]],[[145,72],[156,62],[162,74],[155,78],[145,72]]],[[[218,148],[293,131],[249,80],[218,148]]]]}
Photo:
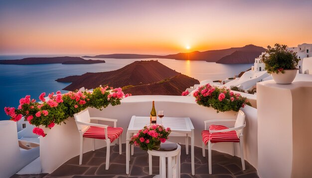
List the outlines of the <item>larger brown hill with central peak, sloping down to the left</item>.
{"type": "Polygon", "coordinates": [[[86,73],[81,76],[57,79],[56,81],[72,82],[65,90],[75,90],[82,87],[94,89],[100,85],[109,85],[116,88],[128,85],[153,84],[178,74],[178,72],[162,65],[158,61],[136,61],[116,71],[86,73]]]}

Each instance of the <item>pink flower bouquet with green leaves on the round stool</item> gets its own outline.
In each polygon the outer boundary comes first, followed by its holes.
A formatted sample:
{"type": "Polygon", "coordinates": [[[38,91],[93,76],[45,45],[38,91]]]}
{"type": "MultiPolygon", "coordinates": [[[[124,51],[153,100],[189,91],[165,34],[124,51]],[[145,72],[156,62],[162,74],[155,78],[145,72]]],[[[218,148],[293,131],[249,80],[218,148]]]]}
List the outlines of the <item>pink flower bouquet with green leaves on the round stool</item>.
{"type": "Polygon", "coordinates": [[[160,142],[164,143],[170,133],[171,129],[169,127],[165,129],[162,125],[151,124],[150,126],[145,126],[134,135],[129,143],[140,146],[145,151],[152,150],[160,142]]]}

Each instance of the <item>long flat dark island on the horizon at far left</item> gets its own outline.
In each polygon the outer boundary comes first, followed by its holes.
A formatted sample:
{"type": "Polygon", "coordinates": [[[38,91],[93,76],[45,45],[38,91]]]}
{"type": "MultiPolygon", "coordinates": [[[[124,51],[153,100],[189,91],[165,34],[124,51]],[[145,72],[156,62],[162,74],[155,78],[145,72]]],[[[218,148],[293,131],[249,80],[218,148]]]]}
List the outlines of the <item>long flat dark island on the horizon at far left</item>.
{"type": "Polygon", "coordinates": [[[85,60],[80,57],[38,57],[38,58],[23,58],[16,60],[0,60],[0,64],[15,64],[15,65],[33,65],[33,64],[97,64],[105,63],[104,60],[85,60]]]}

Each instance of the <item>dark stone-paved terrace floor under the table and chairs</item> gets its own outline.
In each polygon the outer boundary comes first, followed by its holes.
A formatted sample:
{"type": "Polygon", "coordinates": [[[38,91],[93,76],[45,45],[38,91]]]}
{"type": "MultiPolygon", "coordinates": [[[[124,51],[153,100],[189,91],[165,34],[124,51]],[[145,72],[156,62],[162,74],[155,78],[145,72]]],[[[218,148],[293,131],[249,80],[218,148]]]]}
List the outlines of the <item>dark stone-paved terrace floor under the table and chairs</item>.
{"type": "MultiPolygon", "coordinates": [[[[60,166],[51,174],[13,175],[11,178],[153,178],[159,174],[159,158],[153,157],[153,176],[149,175],[148,154],[135,148],[131,157],[130,174],[126,175],[126,145],[123,154],[119,155],[119,147],[111,146],[110,167],[105,170],[106,149],[87,152],[83,155],[82,165],[78,165],[79,156],[60,166]]],[[[190,151],[190,147],[189,147],[190,151]]],[[[208,150],[202,157],[201,148],[195,147],[195,176],[191,176],[191,156],[185,154],[185,146],[181,146],[181,178],[258,178],[257,171],[247,161],[246,170],[242,171],[241,159],[231,155],[212,151],[212,175],[208,174],[208,150]]]]}

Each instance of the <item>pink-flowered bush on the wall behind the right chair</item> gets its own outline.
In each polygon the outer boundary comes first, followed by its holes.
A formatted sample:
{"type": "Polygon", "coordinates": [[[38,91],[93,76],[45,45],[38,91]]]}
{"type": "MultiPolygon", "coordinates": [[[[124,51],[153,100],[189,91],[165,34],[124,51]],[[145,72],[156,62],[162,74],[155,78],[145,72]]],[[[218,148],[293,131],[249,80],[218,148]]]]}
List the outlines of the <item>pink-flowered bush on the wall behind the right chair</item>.
{"type": "Polygon", "coordinates": [[[217,112],[236,111],[246,104],[251,105],[246,97],[239,93],[234,93],[225,87],[213,87],[210,84],[200,86],[194,93],[196,103],[206,107],[212,107],[217,112]]]}

